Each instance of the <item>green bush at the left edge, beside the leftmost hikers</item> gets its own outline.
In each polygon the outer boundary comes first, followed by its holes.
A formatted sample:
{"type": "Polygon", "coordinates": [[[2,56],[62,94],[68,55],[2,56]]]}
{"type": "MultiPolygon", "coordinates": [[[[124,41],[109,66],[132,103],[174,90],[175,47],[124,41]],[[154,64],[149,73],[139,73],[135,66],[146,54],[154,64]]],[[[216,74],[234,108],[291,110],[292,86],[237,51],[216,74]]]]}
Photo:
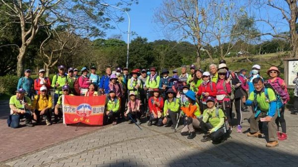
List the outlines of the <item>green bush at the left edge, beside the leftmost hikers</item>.
{"type": "Polygon", "coordinates": [[[19,78],[16,75],[0,76],[0,94],[13,95],[19,78]]]}

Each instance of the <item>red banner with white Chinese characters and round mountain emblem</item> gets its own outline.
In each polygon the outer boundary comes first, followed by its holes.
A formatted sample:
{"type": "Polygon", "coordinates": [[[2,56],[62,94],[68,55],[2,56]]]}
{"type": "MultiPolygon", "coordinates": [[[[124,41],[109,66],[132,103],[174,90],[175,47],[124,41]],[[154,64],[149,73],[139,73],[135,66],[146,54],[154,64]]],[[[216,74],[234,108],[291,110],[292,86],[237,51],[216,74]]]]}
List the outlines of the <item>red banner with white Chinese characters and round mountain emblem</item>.
{"type": "Polygon", "coordinates": [[[106,96],[69,96],[62,99],[63,123],[102,125],[106,96]]]}

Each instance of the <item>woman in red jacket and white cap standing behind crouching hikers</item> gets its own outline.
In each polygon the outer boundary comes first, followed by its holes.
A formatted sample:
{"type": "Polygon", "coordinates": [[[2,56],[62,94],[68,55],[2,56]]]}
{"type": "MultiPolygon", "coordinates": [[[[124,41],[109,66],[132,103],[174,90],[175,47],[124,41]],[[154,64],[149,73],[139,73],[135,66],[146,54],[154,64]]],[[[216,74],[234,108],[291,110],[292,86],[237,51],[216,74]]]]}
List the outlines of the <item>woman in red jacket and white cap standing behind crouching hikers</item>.
{"type": "Polygon", "coordinates": [[[206,104],[207,97],[212,96],[212,97],[216,98],[217,88],[216,88],[215,82],[211,81],[209,72],[205,71],[203,73],[202,78],[203,78],[203,82],[199,86],[197,96],[199,96],[199,99],[200,99],[199,100],[200,111],[203,112],[204,110],[206,110],[208,108],[207,104],[206,104]]]}

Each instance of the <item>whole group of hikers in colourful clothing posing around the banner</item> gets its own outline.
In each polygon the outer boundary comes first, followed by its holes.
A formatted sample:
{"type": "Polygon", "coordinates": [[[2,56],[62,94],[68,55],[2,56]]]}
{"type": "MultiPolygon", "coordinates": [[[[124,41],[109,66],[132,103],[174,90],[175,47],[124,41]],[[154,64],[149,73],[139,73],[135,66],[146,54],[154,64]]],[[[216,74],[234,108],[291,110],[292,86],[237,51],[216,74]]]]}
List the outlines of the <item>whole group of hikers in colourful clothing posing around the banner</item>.
{"type": "MultiPolygon", "coordinates": [[[[290,100],[287,85],[280,78],[276,66],[267,70],[269,79],[260,75],[261,66],[255,64],[251,71],[246,69],[230,71],[225,60],[211,64],[209,71],[190,66],[181,67],[181,73],[174,69],[172,76],[167,69],[160,75],[156,68],[134,69],[106,68],[105,74],[96,74],[96,67],[78,69],[60,65],[52,81],[45,77],[45,70],[39,70],[39,77],[33,80],[31,71],[25,70],[19,79],[16,95],[9,101],[8,126],[17,128],[20,119],[25,118],[26,126],[40,124],[45,115],[46,124],[63,122],[61,110],[63,95],[107,97],[105,117],[113,125],[121,118],[131,119],[137,125],[141,118],[148,118],[148,126],[166,126],[177,129],[183,125],[181,135],[188,139],[204,133],[202,142],[212,140],[214,144],[225,140],[232,127],[242,132],[242,113],[252,110],[249,118],[249,137],[260,137],[268,127],[266,147],[278,146],[278,140],[287,139],[285,105],[290,100]],[[90,71],[89,71],[90,70],[90,71]],[[54,107],[50,89],[54,89],[54,107]],[[33,99],[33,102],[31,100],[33,99]],[[232,106],[236,122],[232,122],[232,106]],[[52,108],[54,110],[52,110],[52,108]],[[52,114],[54,111],[54,121],[52,114]],[[281,131],[280,131],[281,127],[281,131]]],[[[298,102],[298,79],[295,101],[298,102]]],[[[292,114],[297,114],[298,107],[292,114]]]]}

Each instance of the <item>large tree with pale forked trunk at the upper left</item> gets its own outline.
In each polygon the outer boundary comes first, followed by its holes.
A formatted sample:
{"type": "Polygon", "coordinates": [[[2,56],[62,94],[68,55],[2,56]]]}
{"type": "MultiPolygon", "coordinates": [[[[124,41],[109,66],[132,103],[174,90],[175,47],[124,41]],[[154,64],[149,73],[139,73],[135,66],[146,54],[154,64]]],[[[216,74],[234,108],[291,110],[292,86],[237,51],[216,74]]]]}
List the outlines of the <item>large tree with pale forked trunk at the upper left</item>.
{"type": "MultiPolygon", "coordinates": [[[[129,0],[130,5],[134,0],[129,0]]],[[[118,3],[123,5],[126,1],[118,3]]],[[[1,10],[11,23],[19,23],[21,29],[21,44],[17,56],[17,75],[23,71],[25,53],[36,34],[43,27],[51,25],[71,25],[76,31],[84,32],[85,37],[102,36],[104,32],[99,28],[111,28],[104,17],[106,8],[99,0],[0,0],[0,6],[10,11],[1,10]]],[[[0,27],[3,30],[4,27],[0,27]]]]}

